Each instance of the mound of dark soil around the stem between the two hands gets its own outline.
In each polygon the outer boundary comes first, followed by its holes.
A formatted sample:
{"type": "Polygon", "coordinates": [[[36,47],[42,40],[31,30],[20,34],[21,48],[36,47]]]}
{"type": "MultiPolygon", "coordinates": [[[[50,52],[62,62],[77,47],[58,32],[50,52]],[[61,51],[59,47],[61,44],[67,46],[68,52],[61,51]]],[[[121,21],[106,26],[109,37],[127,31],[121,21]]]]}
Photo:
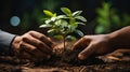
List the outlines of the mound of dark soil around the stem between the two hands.
{"type": "Polygon", "coordinates": [[[79,60],[78,54],[82,51],[81,48],[72,49],[72,45],[75,42],[66,42],[66,47],[63,47],[63,43],[58,43],[54,48],[54,54],[50,60],[37,62],[36,66],[49,66],[49,67],[66,67],[66,66],[83,66],[93,63],[104,63],[102,59],[95,56],[91,56],[89,59],[79,60]]]}

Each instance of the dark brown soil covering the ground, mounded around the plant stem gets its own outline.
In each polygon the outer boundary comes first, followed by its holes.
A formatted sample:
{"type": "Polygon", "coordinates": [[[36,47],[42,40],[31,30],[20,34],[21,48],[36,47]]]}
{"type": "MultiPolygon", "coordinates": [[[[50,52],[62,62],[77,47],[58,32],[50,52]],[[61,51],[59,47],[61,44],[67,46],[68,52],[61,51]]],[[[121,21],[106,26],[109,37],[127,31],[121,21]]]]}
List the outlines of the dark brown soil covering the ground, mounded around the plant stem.
{"type": "Polygon", "coordinates": [[[0,72],[130,72],[130,49],[117,49],[80,61],[77,55],[81,49],[70,51],[72,44],[74,42],[67,42],[63,49],[60,43],[52,58],[42,62],[0,56],[0,72]]]}

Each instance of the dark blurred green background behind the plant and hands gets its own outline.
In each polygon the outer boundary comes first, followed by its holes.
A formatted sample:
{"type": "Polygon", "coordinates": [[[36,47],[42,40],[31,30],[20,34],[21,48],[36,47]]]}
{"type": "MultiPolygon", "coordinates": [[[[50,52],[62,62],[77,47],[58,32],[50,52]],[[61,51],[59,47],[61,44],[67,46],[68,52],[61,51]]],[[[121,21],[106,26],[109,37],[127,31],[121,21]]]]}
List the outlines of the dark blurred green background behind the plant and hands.
{"type": "Polygon", "coordinates": [[[130,25],[130,0],[0,0],[0,29],[15,34],[46,33],[39,28],[42,11],[61,14],[63,6],[83,11],[88,21],[79,28],[84,34],[108,33],[130,25]]]}

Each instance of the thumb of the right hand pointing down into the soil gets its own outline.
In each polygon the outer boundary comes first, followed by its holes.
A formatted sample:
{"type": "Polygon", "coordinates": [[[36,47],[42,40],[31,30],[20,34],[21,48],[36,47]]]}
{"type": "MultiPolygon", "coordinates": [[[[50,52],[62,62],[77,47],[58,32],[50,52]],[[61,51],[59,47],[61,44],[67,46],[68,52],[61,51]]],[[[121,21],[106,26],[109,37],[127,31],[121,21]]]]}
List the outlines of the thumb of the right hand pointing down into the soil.
{"type": "Polygon", "coordinates": [[[96,46],[94,46],[93,44],[90,44],[88,47],[86,47],[82,52],[79,53],[78,58],[80,60],[87,59],[89,56],[91,56],[94,53],[95,47],[96,46]]]}

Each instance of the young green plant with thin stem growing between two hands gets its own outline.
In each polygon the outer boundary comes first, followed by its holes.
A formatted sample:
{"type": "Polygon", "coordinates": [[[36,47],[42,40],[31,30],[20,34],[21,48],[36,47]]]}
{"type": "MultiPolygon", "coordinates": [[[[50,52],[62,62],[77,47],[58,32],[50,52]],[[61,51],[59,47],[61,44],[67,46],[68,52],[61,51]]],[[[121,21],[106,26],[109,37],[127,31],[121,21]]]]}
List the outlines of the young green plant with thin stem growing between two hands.
{"type": "Polygon", "coordinates": [[[65,49],[65,40],[67,38],[76,40],[70,33],[75,32],[80,37],[83,37],[83,33],[77,28],[79,25],[84,25],[83,23],[87,21],[87,19],[80,15],[82,11],[76,11],[73,13],[68,8],[61,8],[61,11],[64,15],[56,15],[56,13],[43,10],[47,17],[43,18],[44,21],[40,28],[49,28],[49,34],[53,38],[63,39],[65,49]]]}

